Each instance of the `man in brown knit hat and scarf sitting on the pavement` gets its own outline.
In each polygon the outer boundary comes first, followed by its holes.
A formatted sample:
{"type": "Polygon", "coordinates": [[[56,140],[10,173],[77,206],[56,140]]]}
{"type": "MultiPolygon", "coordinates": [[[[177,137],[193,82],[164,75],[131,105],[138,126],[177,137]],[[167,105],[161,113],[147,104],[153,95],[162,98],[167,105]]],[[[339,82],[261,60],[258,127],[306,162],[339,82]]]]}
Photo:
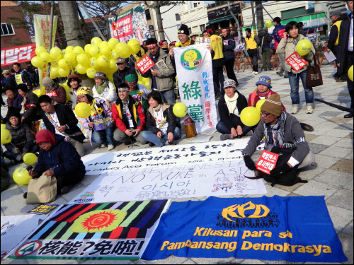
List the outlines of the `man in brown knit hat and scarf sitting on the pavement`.
{"type": "MultiPolygon", "coordinates": [[[[309,145],[299,121],[291,114],[282,111],[282,103],[278,94],[270,95],[261,106],[261,122],[259,122],[248,145],[242,151],[246,167],[249,170],[256,170],[254,161],[258,160],[262,152],[256,151],[256,148],[263,137],[265,137],[264,148],[267,151],[275,146],[292,150],[287,163],[276,165],[270,171],[270,176],[278,178],[292,170],[292,167],[302,168],[314,163],[314,154],[309,151],[309,145]]],[[[255,173],[261,175],[258,170],[255,173]]]]}

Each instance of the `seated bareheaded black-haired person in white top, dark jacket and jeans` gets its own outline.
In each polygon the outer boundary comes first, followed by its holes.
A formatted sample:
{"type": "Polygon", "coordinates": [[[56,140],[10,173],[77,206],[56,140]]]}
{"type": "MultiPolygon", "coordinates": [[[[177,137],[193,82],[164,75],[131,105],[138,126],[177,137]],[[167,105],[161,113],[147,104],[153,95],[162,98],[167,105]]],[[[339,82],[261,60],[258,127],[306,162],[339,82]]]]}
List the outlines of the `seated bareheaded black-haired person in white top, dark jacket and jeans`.
{"type": "Polygon", "coordinates": [[[162,102],[158,91],[147,96],[147,131],[142,131],[142,138],[150,142],[150,146],[162,147],[165,144],[176,144],[180,129],[176,126],[176,117],[172,107],[162,102]]]}

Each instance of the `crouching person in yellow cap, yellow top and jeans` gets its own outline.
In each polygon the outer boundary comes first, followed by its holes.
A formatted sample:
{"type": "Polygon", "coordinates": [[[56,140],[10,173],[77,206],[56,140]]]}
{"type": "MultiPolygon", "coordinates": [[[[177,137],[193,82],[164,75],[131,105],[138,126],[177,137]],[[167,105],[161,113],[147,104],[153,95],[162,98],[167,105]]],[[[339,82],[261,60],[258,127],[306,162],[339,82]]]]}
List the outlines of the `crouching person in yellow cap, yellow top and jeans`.
{"type": "Polygon", "coordinates": [[[113,123],[111,120],[111,111],[104,100],[91,97],[91,89],[81,87],[77,90],[77,99],[79,102],[89,104],[91,114],[88,118],[80,118],[85,129],[89,129],[89,139],[101,148],[105,147],[105,141],[108,144],[108,151],[113,150],[113,123]]]}

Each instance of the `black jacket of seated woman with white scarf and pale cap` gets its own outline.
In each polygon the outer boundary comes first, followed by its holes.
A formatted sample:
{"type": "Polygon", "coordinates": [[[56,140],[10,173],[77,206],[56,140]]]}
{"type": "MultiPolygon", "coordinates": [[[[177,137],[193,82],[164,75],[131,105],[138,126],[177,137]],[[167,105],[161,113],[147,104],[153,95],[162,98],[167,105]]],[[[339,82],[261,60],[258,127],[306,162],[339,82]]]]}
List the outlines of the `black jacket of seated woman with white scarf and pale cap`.
{"type": "MultiPolygon", "coordinates": [[[[239,110],[239,113],[241,113],[241,111],[244,110],[245,107],[247,107],[247,100],[244,97],[244,95],[239,93],[239,91],[236,91],[236,93],[239,94],[239,98],[237,98],[236,106],[237,109],[239,110]]],[[[219,104],[217,105],[217,107],[219,109],[220,119],[222,122],[224,122],[225,126],[227,126],[228,129],[231,130],[233,127],[236,129],[238,125],[241,127],[244,126],[244,124],[241,122],[240,117],[229,112],[224,97],[219,99],[219,104]]]]}

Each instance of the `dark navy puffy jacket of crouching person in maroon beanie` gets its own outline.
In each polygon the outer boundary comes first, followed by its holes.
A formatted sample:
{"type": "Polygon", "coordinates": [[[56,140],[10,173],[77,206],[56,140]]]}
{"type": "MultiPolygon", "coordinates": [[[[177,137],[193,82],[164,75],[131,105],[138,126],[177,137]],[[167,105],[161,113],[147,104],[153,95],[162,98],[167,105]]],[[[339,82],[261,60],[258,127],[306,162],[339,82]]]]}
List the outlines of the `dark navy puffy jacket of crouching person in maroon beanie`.
{"type": "Polygon", "coordinates": [[[40,177],[43,172],[52,169],[55,176],[79,175],[84,179],[86,170],[79,153],[74,146],[64,141],[64,136],[55,135],[55,144],[50,151],[40,149],[38,164],[35,165],[35,172],[40,177]]]}

